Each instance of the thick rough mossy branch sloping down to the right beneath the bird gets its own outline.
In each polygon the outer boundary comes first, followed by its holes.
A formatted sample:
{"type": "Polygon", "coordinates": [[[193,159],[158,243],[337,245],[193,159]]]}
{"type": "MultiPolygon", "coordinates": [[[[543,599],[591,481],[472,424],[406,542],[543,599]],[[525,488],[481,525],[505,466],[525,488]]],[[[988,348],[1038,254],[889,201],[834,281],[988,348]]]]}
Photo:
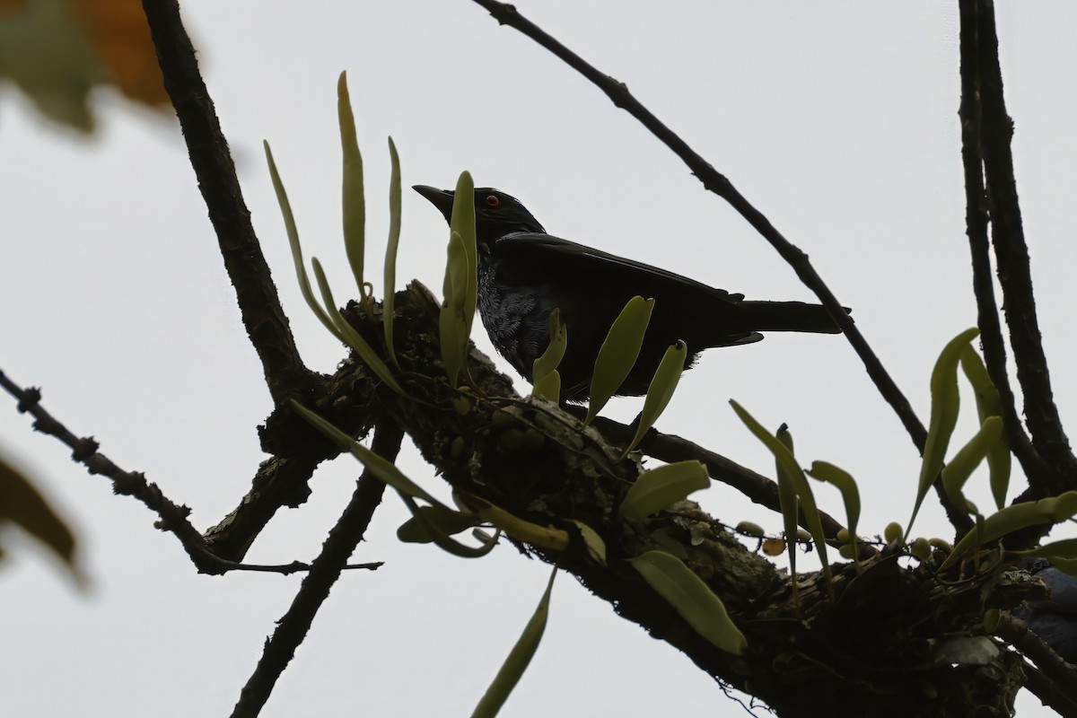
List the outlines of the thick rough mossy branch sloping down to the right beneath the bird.
{"type": "MultiPolygon", "coordinates": [[[[377,313],[350,307],[349,321],[383,351],[377,313]]],[[[801,614],[774,566],[745,548],[723,523],[691,502],[645,521],[626,522],[618,506],[640,466],[621,459],[624,445],[545,399],[524,399],[487,357],[471,350],[474,385],[448,385],[437,350],[438,306],[412,283],[396,295],[396,350],[401,384],[414,400],[378,386],[350,358],[326,381],[326,394],[309,406],[340,428],[362,434],[388,416],[454,490],[479,496],[540,525],[578,537],[579,521],[602,537],[607,564],[589,558],[583,540],[565,551],[521,546],[574,574],[624,618],[686,653],[708,674],[767,701],[782,716],[961,715],[960,706],[982,706],[982,715],[1008,715],[1022,684],[1020,660],[1006,651],[982,666],[953,667],[932,660],[938,642],[982,633],[990,606],[1006,608],[1023,593],[1006,575],[982,562],[978,572],[943,585],[925,566],[908,568],[894,555],[852,566],[836,565],[837,602],[815,575],[801,575],[801,614]],[[726,653],[697,634],[624,561],[647,550],[681,559],[717,594],[747,636],[747,652],[726,653]]],[[[290,411],[269,418],[267,448],[314,460],[336,450],[290,411]]],[[[719,489],[721,490],[725,490],[719,489]]],[[[244,502],[236,511],[243,520],[244,502]]],[[[733,523],[738,517],[722,517],[733,523]]],[[[241,545],[242,541],[237,541],[241,545]]],[[[951,576],[956,579],[956,576],[951,576]]]]}

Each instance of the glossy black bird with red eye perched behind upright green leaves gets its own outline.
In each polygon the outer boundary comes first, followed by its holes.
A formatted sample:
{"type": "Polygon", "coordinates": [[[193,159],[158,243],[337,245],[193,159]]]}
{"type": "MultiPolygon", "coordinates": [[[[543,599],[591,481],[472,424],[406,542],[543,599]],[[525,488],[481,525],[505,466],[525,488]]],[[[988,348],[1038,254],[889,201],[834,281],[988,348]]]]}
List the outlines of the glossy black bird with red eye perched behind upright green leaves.
{"type": "MultiPolygon", "coordinates": [[[[412,189],[450,220],[452,189],[421,184],[412,189]]],[[[549,344],[549,314],[559,309],[568,328],[558,366],[562,400],[588,399],[599,349],[633,296],[653,298],[654,309],[618,396],[646,394],[667,348],[679,340],[687,347],[687,369],[703,350],[753,343],[763,339],[760,332],[841,332],[822,305],[745,300],[743,294],[554,237],[518,199],[499,189],[474,193],[482,324],[498,352],[533,382],[533,363],[549,344]]]]}

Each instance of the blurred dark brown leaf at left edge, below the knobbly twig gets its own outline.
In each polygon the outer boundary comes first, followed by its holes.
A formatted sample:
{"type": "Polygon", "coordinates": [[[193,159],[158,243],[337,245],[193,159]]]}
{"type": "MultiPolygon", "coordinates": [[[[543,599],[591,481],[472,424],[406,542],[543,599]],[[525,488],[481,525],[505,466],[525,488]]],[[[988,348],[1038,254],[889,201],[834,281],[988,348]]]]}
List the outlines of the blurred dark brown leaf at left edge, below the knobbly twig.
{"type": "Polygon", "coordinates": [[[0,457],[0,526],[11,522],[48,547],[80,586],[85,577],[75,563],[74,534],[24,474],[0,457]]]}

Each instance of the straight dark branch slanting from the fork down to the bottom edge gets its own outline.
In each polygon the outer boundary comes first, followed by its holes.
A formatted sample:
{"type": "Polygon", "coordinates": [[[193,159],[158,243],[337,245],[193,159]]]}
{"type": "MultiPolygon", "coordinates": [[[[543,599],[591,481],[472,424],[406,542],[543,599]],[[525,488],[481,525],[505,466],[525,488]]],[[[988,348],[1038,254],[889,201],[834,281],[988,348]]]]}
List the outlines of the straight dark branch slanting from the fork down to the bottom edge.
{"type": "MultiPolygon", "coordinates": [[[[403,437],[404,433],[396,424],[382,423],[375,428],[370,448],[375,453],[393,461],[400,452],[403,437]]],[[[310,565],[310,572],[303,579],[288,613],[277,622],[277,630],[266,642],[262,659],[243,686],[232,712],[233,718],[253,718],[261,713],[281,673],[295,656],[295,649],[310,631],[314,616],[330,595],[330,589],[340,577],[348,559],[366,533],[384,488],[386,484],[374,478],[369,470],[364,470],[360,476],[340,520],[330,531],[322,552],[310,565]]]]}

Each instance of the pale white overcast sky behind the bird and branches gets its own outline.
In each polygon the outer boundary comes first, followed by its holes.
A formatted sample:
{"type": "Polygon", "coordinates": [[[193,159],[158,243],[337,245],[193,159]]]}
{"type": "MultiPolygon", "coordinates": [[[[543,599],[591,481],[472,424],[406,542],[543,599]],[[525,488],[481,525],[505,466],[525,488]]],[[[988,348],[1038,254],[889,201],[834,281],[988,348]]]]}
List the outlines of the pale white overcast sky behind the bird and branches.
{"type": "MultiPolygon", "coordinates": [[[[955,3],[675,6],[519,5],[626,82],[811,255],[926,422],[938,351],[976,322],[955,3]]],[[[375,277],[391,133],[405,185],[451,186],[466,168],[477,184],[519,197],[555,235],[750,298],[811,298],[777,253],[635,121],[473,3],[191,0],[184,11],[255,228],[313,368],[331,371],[342,350],[295,287],[261,141],[272,143],[308,256],[328,265],[337,297],[347,296],[335,114],[342,69],[366,160],[375,277]]],[[[1040,325],[1073,432],[1077,60],[1067,51],[1077,6],[1037,3],[1036,11],[1004,3],[998,26],[1040,325]]],[[[97,98],[102,131],[87,143],[45,126],[10,87],[0,98],[0,368],[42,385],[47,409],[190,505],[198,527],[216,523],[250,485],[263,457],[255,426],[271,407],[178,127],[104,93],[97,98]]],[[[440,286],[446,236],[442,216],[406,191],[402,284],[418,277],[440,286]]],[[[475,339],[490,351],[480,328],[475,339]]],[[[712,350],[659,423],[771,474],[730,397],[769,426],[788,422],[805,465],[826,459],[857,477],[863,533],[907,521],[919,456],[841,337],[770,335],[712,350]]],[[[606,413],[628,419],[638,407],[620,400],[606,413]]],[[[959,427],[966,437],[970,414],[966,402],[959,427]]],[[[198,576],[176,539],[153,529],[149,510],[113,496],[58,442],[31,434],[13,402],[0,400],[0,449],[34,473],[78,527],[95,583],[83,597],[40,553],[9,558],[0,573],[2,713],[227,715],[300,577],[198,576]]],[[[414,451],[400,463],[447,494],[414,451]]],[[[320,469],[310,502],[282,511],[248,560],[311,560],[358,471],[346,460],[320,469]]],[[[985,477],[973,482],[983,485],[985,477]]],[[[779,530],[778,516],[724,484],[699,501],[726,522],[779,530]]],[[[979,501],[989,505],[985,492],[979,501]]],[[[841,516],[837,496],[823,492],[822,502],[841,516]]],[[[509,546],[482,561],[401,546],[394,531],[404,518],[387,495],[355,554],[387,565],[350,573],[334,588],[263,715],[470,714],[548,569],[509,546]]],[[[933,498],[914,533],[949,536],[933,498]]],[[[741,715],[686,658],[561,576],[546,638],[504,715],[671,708],[741,715]]],[[[1031,694],[1019,708],[1050,715],[1031,694]]]]}

